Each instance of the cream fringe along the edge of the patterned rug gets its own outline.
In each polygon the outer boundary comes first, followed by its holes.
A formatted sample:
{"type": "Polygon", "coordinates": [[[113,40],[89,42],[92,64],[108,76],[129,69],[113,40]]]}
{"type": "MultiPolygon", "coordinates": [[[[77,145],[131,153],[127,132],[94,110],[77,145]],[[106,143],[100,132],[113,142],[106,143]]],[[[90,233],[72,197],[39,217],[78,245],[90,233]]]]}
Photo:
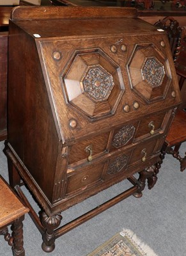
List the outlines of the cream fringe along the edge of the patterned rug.
{"type": "Polygon", "coordinates": [[[132,232],[132,230],[123,229],[123,231],[120,232],[120,235],[127,236],[128,239],[130,239],[130,241],[137,246],[139,252],[143,253],[144,255],[158,256],[147,244],[143,243],[141,239],[139,239],[139,237],[132,232]]]}

